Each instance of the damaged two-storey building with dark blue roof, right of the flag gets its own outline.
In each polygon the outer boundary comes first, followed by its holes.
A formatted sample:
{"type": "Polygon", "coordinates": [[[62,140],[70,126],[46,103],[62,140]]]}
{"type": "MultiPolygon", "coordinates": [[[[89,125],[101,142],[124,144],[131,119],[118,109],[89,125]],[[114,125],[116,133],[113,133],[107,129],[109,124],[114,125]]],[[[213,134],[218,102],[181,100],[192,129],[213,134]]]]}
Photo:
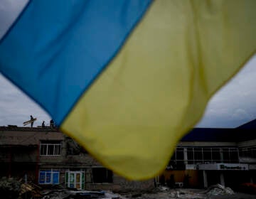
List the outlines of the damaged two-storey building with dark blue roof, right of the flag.
{"type": "Polygon", "coordinates": [[[157,181],[201,188],[219,183],[234,189],[256,183],[256,119],[234,129],[194,128],[178,143],[157,181]]]}

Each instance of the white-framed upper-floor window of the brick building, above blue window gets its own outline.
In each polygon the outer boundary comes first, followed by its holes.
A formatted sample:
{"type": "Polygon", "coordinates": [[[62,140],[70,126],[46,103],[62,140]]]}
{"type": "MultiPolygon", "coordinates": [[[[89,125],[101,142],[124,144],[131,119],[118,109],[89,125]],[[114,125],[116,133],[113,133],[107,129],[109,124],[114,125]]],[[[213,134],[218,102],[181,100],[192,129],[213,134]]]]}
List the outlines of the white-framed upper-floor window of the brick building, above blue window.
{"type": "Polygon", "coordinates": [[[41,156],[60,156],[60,141],[41,141],[41,156]]]}

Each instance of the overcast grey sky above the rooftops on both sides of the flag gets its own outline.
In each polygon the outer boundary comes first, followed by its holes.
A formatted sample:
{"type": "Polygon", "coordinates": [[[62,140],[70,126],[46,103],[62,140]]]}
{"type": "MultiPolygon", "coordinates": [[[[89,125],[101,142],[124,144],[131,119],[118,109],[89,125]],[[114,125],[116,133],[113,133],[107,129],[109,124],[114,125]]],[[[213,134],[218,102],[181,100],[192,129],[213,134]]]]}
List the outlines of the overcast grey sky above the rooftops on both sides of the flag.
{"type": "MultiPolygon", "coordinates": [[[[23,122],[36,117],[34,127],[46,125],[50,117],[35,102],[0,74],[0,126],[23,126],[23,122]]],[[[238,127],[256,119],[256,55],[238,75],[210,100],[198,127],[238,127]]]]}

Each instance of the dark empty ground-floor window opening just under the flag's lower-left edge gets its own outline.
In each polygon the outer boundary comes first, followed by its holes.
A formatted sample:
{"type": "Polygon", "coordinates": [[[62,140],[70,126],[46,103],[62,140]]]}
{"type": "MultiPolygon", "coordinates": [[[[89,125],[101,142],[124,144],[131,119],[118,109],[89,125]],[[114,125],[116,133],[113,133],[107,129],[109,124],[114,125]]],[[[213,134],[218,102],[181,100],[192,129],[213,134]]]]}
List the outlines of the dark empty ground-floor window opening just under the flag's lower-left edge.
{"type": "Polygon", "coordinates": [[[93,183],[112,183],[113,172],[107,168],[92,168],[92,181],[93,183]]]}

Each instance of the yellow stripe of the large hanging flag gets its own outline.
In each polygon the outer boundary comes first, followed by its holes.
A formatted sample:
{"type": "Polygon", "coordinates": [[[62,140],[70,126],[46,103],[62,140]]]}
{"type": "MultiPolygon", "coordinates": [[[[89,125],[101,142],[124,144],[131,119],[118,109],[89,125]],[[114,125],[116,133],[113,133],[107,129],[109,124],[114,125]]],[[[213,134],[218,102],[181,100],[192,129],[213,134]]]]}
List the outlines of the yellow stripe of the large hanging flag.
{"type": "Polygon", "coordinates": [[[211,95],[255,53],[255,7],[155,1],[61,129],[129,179],[163,171],[211,95]]]}

